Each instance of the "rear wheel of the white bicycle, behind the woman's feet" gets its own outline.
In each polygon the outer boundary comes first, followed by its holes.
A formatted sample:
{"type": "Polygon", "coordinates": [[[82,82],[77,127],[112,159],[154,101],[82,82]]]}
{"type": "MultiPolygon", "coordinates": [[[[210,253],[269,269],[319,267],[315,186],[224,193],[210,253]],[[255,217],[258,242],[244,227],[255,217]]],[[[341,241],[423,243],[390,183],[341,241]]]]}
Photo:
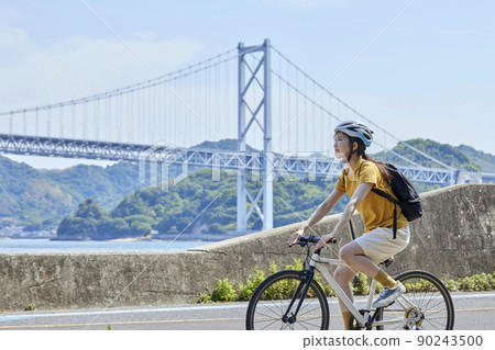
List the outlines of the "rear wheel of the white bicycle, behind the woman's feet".
{"type": "Polygon", "coordinates": [[[398,330],[451,330],[454,325],[454,307],[449,290],[433,274],[421,271],[406,271],[395,280],[406,286],[404,294],[418,308],[405,309],[397,302],[380,311],[380,318],[387,320],[397,316],[413,317],[420,315],[421,319],[411,325],[384,325],[377,329],[398,330]]]}

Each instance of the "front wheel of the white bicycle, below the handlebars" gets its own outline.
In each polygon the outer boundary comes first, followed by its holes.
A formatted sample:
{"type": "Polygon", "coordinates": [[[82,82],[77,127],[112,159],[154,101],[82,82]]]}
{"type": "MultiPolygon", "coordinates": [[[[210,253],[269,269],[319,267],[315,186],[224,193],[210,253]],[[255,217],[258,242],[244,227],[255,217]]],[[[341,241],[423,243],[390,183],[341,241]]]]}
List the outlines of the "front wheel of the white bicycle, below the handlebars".
{"type": "Polygon", "coordinates": [[[277,272],[263,281],[248,306],[246,329],[328,329],[327,296],[315,280],[302,295],[306,283],[304,271],[290,270],[277,272]],[[301,298],[302,304],[295,315],[301,298]],[[294,301],[293,305],[290,305],[292,301],[294,301]]]}

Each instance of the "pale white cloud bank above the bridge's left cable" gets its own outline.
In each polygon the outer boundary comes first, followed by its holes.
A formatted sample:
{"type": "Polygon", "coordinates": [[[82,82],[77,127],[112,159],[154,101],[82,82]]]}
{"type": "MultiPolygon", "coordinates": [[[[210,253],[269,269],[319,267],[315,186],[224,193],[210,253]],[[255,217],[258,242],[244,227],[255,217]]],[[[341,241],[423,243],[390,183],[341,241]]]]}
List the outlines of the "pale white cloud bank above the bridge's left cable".
{"type": "MultiPolygon", "coordinates": [[[[61,102],[154,78],[117,38],[72,37],[40,47],[29,33],[0,22],[0,111],[61,102]]],[[[136,33],[128,42],[158,74],[188,63],[204,45],[189,38],[136,33]]]]}

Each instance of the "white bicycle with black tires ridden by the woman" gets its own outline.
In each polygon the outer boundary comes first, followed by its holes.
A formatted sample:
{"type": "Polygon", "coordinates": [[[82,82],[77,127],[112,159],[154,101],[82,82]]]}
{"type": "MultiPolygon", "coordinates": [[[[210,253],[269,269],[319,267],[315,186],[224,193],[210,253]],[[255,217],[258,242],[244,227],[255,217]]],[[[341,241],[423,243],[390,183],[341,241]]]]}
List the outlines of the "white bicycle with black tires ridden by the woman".
{"type": "MultiPolygon", "coordinates": [[[[358,309],[326,266],[344,264],[340,259],[320,257],[320,249],[310,256],[310,247],[319,237],[300,237],[307,247],[302,270],[285,270],[272,274],[254,291],[248,306],[246,329],[328,329],[330,311],[323,289],[315,280],[315,271],[327,280],[351,312],[351,329],[452,329],[454,308],[449,291],[433,274],[413,270],[395,276],[406,293],[386,307],[372,309],[376,281],[372,280],[364,309],[358,309]],[[308,263],[309,259],[309,263],[308,263]],[[306,266],[308,264],[308,268],[306,266]]],[[[336,242],[332,240],[331,242],[336,242]]],[[[391,261],[381,264],[388,266],[391,261]],[[387,264],[385,264],[387,263],[387,264]]]]}

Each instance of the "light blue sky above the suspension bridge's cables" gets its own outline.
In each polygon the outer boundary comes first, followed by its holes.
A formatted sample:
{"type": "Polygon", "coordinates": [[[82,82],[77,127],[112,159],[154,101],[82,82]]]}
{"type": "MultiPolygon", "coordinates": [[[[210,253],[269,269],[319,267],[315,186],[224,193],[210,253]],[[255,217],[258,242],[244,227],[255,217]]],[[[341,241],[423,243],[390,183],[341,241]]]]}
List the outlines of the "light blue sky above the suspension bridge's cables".
{"type": "MultiPolygon", "coordinates": [[[[410,1],[87,3],[156,71],[270,37],[327,86],[410,1]]],[[[402,139],[495,154],[494,18],[493,1],[418,0],[330,90],[402,139]]],[[[1,112],[148,78],[150,70],[81,1],[0,2],[1,112]]],[[[80,162],[15,159],[48,168],[80,162]]]]}

